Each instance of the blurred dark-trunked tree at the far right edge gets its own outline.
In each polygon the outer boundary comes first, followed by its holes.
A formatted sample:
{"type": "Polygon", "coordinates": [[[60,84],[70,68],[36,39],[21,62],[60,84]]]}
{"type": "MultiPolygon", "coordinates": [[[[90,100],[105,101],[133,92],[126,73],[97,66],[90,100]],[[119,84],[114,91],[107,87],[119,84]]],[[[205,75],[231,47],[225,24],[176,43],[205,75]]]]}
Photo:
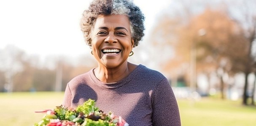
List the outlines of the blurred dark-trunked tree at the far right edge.
{"type": "Polygon", "coordinates": [[[229,5],[229,15],[234,19],[234,21],[236,21],[237,24],[242,26],[243,37],[245,38],[244,44],[247,45],[246,55],[242,64],[242,71],[245,73],[243,105],[248,105],[248,75],[252,72],[255,73],[256,71],[256,66],[254,65],[256,63],[256,51],[253,51],[253,44],[256,44],[256,1],[232,1],[230,3],[227,2],[226,4],[229,5]]]}

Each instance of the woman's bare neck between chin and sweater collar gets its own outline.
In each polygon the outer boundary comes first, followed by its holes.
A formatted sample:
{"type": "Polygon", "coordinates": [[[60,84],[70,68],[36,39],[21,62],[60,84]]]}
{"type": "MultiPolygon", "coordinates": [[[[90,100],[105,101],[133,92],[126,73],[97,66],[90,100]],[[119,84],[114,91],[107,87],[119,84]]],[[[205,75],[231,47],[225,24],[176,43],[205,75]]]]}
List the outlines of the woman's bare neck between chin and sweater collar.
{"type": "Polygon", "coordinates": [[[106,68],[105,66],[99,65],[94,69],[94,75],[104,83],[113,83],[124,79],[134,68],[135,65],[128,62],[116,68],[106,68]]]}

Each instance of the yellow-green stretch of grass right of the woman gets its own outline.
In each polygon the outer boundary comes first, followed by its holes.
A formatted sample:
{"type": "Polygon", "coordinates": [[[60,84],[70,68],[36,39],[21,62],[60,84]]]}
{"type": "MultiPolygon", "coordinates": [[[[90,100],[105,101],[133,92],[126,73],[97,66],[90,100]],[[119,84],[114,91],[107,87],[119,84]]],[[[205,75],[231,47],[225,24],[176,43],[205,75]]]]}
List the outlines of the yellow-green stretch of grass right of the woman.
{"type": "Polygon", "coordinates": [[[182,126],[256,126],[256,107],[241,101],[178,100],[182,126]]]}

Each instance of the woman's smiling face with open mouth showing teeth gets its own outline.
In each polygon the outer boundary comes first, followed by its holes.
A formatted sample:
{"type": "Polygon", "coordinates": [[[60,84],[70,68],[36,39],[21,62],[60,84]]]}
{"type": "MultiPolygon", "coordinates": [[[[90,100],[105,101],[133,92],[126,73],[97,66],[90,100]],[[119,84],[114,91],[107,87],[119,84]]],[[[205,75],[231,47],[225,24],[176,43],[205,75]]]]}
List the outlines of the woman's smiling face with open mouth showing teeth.
{"type": "Polygon", "coordinates": [[[115,68],[127,63],[132,51],[129,18],[125,15],[99,16],[92,29],[92,53],[98,63],[115,68]]]}

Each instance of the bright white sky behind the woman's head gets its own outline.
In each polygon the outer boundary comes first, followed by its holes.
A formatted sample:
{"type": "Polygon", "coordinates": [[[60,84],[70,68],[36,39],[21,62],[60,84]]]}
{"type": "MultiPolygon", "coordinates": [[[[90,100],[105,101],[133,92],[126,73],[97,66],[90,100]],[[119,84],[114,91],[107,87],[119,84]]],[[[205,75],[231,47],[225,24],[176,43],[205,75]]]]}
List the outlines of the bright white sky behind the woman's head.
{"type": "MultiPolygon", "coordinates": [[[[92,0],[1,0],[0,49],[15,45],[27,54],[90,53],[79,21],[92,0]]],[[[145,14],[145,37],[171,0],[134,0],[145,14]]],[[[144,38],[145,38],[144,37],[144,38]]]]}

